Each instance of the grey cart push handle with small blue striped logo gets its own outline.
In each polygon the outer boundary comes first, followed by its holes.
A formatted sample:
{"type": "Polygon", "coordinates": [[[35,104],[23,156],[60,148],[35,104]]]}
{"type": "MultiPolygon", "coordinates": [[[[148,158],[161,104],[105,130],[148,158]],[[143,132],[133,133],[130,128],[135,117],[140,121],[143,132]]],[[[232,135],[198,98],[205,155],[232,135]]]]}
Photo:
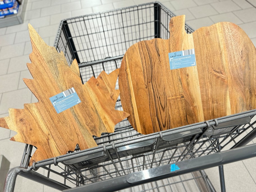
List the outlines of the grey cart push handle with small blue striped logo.
{"type": "Polygon", "coordinates": [[[106,179],[77,188],[64,190],[65,192],[109,192],[133,187],[151,181],[166,179],[177,175],[195,172],[215,166],[220,166],[256,156],[256,144],[234,148],[228,151],[196,157],[185,161],[167,164],[148,170],[143,170],[112,179],[106,179]],[[111,189],[111,190],[110,190],[111,189]]]}

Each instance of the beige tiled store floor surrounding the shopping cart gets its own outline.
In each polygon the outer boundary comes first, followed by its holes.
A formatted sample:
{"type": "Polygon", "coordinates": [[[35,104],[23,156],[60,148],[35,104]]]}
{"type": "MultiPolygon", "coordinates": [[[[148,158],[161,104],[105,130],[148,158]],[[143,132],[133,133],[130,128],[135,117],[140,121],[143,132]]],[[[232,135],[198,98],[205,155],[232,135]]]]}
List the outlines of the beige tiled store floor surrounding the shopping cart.
{"type": "MultiPolygon", "coordinates": [[[[0,28],[0,117],[8,116],[8,108],[23,108],[36,99],[22,78],[31,78],[26,67],[31,44],[27,30],[31,23],[45,42],[53,45],[60,20],[97,13],[150,0],[29,0],[24,24],[0,28]]],[[[161,2],[176,15],[185,14],[192,28],[220,21],[239,25],[256,45],[256,0],[173,0],[161,2]]],[[[9,141],[15,133],[0,128],[0,154],[18,166],[24,144],[9,141]]],[[[256,191],[255,158],[224,166],[227,191],[256,191]]],[[[43,171],[42,171],[43,172],[43,171]]],[[[206,170],[214,187],[220,191],[218,168],[206,170]]],[[[1,190],[1,189],[0,189],[1,190]]],[[[49,187],[18,177],[15,191],[52,191],[49,187]]]]}

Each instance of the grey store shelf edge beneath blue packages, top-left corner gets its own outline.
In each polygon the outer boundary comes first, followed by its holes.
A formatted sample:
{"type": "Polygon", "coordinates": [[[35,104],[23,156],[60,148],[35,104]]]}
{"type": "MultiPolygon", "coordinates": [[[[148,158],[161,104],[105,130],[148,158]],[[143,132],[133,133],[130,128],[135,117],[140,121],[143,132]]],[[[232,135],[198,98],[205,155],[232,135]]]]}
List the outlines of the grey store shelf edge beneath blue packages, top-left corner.
{"type": "Polygon", "coordinates": [[[23,23],[28,0],[19,1],[19,11],[17,14],[7,15],[0,19],[0,28],[18,25],[23,23]]]}

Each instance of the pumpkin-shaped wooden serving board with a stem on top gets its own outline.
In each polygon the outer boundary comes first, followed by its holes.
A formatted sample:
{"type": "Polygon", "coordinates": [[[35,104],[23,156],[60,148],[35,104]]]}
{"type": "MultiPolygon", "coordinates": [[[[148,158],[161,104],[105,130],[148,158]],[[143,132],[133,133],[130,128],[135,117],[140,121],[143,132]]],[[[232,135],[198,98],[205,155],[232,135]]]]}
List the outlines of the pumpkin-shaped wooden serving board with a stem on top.
{"type": "Polygon", "coordinates": [[[170,38],[132,45],[120,67],[119,89],[131,125],[149,134],[256,108],[256,50],[237,25],[220,22],[185,31],[170,21],[170,38]],[[194,49],[196,64],[171,69],[169,53],[194,49]]]}

